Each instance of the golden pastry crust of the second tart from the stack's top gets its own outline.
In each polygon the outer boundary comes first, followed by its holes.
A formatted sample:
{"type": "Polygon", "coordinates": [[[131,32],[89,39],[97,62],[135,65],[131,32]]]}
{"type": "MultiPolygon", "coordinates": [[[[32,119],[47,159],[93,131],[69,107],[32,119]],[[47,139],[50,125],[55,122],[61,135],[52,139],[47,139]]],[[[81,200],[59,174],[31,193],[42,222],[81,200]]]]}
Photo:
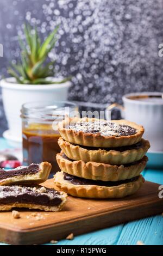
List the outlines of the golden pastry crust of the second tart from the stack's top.
{"type": "Polygon", "coordinates": [[[64,154],[72,160],[82,160],[86,162],[99,162],[109,164],[126,164],[138,161],[142,159],[150,148],[150,144],[145,139],[141,139],[140,147],[135,148],[131,146],[131,149],[98,149],[90,147],[80,147],[76,144],[64,141],[61,137],[58,140],[59,147],[64,154]],[[122,151],[123,150],[123,151],[122,151]]]}

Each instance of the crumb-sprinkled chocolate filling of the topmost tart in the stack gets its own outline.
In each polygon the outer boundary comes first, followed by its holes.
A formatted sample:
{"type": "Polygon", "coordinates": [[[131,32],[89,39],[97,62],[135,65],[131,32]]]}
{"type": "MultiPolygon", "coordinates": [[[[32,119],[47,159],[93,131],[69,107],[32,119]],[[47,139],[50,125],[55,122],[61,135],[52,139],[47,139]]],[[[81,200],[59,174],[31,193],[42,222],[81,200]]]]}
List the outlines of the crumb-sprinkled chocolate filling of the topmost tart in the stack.
{"type": "Polygon", "coordinates": [[[136,129],[133,127],[111,123],[111,121],[82,121],[80,123],[70,124],[67,128],[76,132],[83,131],[84,133],[99,133],[102,136],[120,137],[136,134],[136,129]]]}

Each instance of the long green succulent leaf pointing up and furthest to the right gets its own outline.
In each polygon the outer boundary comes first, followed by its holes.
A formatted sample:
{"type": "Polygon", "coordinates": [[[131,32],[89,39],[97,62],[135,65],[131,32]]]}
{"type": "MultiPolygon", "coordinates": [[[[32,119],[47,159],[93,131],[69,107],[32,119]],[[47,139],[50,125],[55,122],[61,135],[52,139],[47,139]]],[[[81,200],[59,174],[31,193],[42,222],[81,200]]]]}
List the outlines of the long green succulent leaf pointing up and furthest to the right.
{"type": "Polygon", "coordinates": [[[42,46],[39,50],[39,58],[43,58],[47,55],[47,52],[49,52],[48,48],[51,48],[51,42],[54,40],[54,35],[57,34],[59,26],[57,26],[54,31],[48,35],[46,40],[43,42],[42,46]]]}

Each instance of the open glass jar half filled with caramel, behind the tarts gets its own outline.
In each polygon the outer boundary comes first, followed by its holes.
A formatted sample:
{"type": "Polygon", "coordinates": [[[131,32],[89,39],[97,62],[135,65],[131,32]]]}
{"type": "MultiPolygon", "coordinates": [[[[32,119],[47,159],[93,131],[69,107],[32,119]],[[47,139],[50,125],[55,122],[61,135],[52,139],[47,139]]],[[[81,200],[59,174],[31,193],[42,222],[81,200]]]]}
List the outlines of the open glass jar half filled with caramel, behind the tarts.
{"type": "Polygon", "coordinates": [[[59,121],[78,111],[75,103],[68,101],[26,103],[21,109],[23,164],[47,161],[52,164],[52,172],[59,166],[56,155],[60,153],[57,130],[59,121]]]}

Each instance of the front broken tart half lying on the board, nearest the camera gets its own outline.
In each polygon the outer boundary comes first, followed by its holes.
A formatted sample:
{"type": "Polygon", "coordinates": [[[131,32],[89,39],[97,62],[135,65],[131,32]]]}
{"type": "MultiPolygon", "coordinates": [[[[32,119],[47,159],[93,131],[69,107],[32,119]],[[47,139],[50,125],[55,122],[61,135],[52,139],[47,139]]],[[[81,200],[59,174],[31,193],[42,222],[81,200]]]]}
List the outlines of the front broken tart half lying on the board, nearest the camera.
{"type": "Polygon", "coordinates": [[[60,211],[67,194],[43,186],[0,186],[0,211],[12,208],[60,211]]]}

